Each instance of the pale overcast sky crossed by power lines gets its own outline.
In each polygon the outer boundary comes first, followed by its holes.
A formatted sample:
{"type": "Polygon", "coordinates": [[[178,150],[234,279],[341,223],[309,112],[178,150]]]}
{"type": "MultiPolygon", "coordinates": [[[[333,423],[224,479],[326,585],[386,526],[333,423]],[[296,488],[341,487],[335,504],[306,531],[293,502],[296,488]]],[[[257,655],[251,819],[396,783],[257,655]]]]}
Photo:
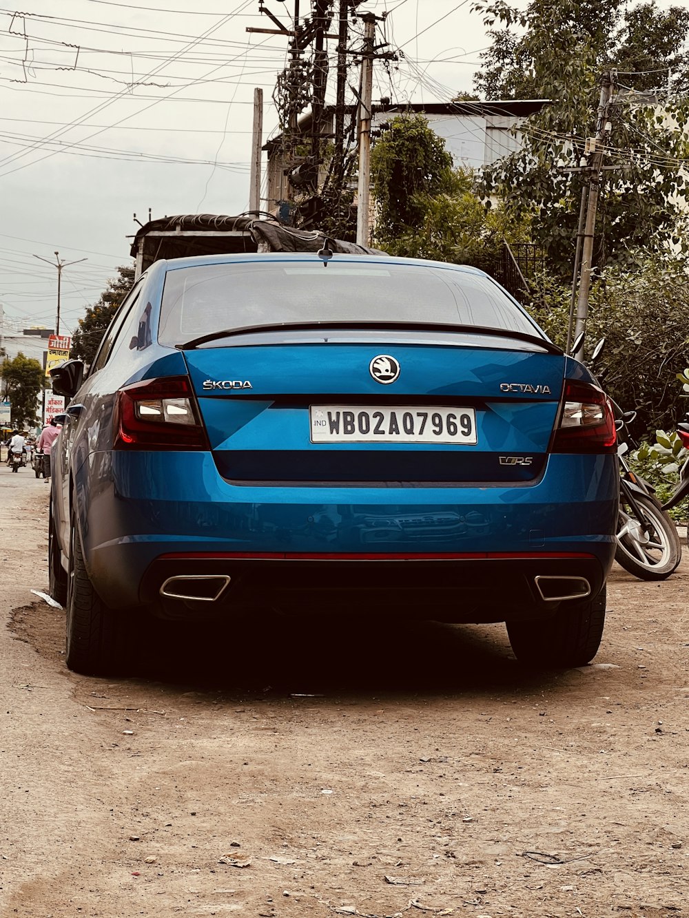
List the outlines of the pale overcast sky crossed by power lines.
{"type": "MultiPolygon", "coordinates": [[[[293,0],[265,0],[283,20],[293,0]]],[[[471,89],[486,39],[471,0],[369,0],[389,11],[386,38],[404,51],[378,64],[374,98],[449,101],[471,89]]],[[[310,10],[301,0],[300,13],[310,10]]],[[[271,95],[288,39],[258,0],[22,0],[0,7],[0,303],[6,326],[72,330],[119,264],[141,222],[248,207],[254,86],[271,95]],[[194,7],[194,12],[185,11],[194,7]],[[132,87],[132,83],[135,85],[132,87]]],[[[359,26],[360,28],[360,26],[359,26]]],[[[330,42],[334,54],[335,42],[330,42]]],[[[354,79],[353,79],[354,82],[354,79]]],[[[332,99],[332,95],[330,96],[332,99]]],[[[265,190],[265,189],[264,189],[265,190]]]]}

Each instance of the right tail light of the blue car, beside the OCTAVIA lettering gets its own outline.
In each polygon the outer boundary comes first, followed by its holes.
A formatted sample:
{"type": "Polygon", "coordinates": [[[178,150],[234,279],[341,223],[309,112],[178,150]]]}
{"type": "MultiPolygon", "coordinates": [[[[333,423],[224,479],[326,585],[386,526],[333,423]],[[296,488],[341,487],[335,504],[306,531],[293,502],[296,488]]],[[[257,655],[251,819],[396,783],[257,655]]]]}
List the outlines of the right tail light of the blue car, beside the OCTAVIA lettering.
{"type": "Polygon", "coordinates": [[[551,453],[615,453],[617,431],[610,399],[580,380],[565,382],[564,404],[551,453]]]}

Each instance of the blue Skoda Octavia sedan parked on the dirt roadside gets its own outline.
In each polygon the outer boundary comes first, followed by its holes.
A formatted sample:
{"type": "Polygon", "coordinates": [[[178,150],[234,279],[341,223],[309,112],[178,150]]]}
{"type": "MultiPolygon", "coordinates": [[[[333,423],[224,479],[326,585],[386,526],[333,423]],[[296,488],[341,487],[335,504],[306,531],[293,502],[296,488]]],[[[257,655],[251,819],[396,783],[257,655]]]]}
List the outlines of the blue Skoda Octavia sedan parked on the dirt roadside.
{"type": "Polygon", "coordinates": [[[67,665],[143,615],[504,621],[519,660],[595,655],[615,553],[607,397],[487,274],[387,255],[158,261],[52,457],[67,665]]]}

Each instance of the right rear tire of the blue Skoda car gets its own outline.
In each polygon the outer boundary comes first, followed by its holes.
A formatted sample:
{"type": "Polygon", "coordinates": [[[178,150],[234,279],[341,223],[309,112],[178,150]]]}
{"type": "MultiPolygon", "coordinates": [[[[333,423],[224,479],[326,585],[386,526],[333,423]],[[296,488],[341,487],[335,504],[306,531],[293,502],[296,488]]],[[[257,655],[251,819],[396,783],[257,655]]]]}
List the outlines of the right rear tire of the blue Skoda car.
{"type": "Polygon", "coordinates": [[[598,596],[565,602],[548,619],[509,621],[514,656],[526,666],[566,669],[586,666],[601,645],[605,624],[605,588],[598,596]]]}

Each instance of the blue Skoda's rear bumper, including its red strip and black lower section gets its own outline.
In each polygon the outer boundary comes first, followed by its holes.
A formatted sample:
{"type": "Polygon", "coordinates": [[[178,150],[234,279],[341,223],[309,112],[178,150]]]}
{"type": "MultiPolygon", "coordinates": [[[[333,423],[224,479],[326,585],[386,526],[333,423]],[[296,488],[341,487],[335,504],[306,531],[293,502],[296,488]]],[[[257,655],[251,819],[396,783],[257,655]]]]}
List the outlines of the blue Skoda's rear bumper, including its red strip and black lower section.
{"type": "Polygon", "coordinates": [[[442,488],[233,487],[209,453],[95,457],[76,508],[89,576],[112,608],[210,571],[232,578],[222,599],[234,607],[351,614],[375,595],[380,614],[466,605],[467,621],[479,607],[496,621],[552,610],[535,577],[584,577],[595,594],[614,557],[616,456],[550,456],[527,487],[442,488]]]}

